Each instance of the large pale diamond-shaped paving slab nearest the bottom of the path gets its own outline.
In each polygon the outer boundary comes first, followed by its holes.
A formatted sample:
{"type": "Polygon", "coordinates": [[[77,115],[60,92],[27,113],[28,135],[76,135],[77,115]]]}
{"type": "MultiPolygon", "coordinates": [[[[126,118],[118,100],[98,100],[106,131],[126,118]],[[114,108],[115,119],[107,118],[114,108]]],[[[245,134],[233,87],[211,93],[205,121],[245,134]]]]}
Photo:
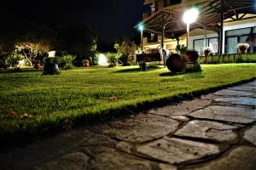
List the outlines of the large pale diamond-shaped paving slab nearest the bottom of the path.
{"type": "Polygon", "coordinates": [[[193,161],[219,153],[218,146],[185,139],[163,138],[137,146],[137,152],[171,164],[193,161]]]}

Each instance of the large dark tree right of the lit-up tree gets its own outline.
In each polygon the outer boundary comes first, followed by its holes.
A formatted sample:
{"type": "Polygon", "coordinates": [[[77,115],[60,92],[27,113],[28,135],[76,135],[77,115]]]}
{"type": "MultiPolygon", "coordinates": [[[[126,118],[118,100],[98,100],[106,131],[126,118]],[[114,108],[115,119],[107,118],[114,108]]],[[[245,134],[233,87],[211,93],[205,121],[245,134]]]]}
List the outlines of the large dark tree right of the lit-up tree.
{"type": "Polygon", "coordinates": [[[67,54],[76,55],[75,63],[82,65],[84,59],[95,60],[97,36],[84,23],[60,24],[55,30],[54,47],[56,50],[67,51],[67,54]]]}

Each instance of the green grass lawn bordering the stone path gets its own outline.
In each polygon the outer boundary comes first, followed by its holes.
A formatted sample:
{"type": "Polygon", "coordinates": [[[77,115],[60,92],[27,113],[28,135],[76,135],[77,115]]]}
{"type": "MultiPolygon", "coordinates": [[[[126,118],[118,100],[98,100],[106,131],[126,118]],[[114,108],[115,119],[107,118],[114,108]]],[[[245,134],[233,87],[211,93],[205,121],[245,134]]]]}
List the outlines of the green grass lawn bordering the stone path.
{"type": "Polygon", "coordinates": [[[0,74],[0,134],[35,133],[226,87],[256,77],[256,64],[201,65],[202,72],[169,74],[138,66],[0,74]],[[68,121],[67,121],[68,120],[68,121]],[[70,123],[71,124],[71,123],[70,123]]]}

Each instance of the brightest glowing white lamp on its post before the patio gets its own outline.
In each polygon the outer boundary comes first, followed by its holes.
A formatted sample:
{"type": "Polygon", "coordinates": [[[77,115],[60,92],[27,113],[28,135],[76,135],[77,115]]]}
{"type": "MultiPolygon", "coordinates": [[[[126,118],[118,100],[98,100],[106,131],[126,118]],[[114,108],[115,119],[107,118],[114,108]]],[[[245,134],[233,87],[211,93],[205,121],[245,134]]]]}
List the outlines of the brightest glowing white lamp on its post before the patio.
{"type": "Polygon", "coordinates": [[[197,8],[190,8],[183,15],[183,21],[187,24],[187,48],[189,48],[189,25],[195,22],[199,14],[197,8]]]}

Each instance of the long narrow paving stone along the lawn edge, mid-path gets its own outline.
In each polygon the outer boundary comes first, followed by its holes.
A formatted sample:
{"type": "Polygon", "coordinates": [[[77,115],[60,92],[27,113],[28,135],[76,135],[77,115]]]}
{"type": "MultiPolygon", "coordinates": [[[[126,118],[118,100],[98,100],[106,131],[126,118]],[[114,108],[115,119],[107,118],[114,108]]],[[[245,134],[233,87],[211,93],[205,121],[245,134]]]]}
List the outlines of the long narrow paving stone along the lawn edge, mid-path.
{"type": "Polygon", "coordinates": [[[168,105],[159,109],[152,109],[148,113],[160,115],[160,116],[182,116],[188,114],[191,111],[196,111],[201,108],[211,105],[212,100],[209,99],[194,99],[189,101],[183,101],[178,105],[168,105]]]}

